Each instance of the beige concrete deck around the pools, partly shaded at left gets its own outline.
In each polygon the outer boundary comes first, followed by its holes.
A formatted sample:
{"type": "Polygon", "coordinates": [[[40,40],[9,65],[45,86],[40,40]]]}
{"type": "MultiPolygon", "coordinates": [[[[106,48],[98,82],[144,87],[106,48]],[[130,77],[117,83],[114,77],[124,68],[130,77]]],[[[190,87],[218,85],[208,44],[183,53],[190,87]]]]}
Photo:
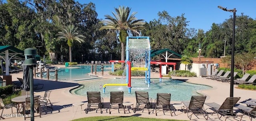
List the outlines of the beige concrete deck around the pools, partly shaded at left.
{"type": "MultiPolygon", "coordinates": [[[[60,67],[64,67],[64,65],[58,65],[60,67]]],[[[12,81],[17,81],[17,77],[22,78],[23,73],[11,73],[12,75],[12,81]]],[[[97,73],[98,76],[100,76],[100,73],[97,73]]],[[[114,77],[111,75],[108,75],[107,72],[104,73],[104,78],[110,78],[114,77]]],[[[159,73],[152,72],[151,73],[151,78],[158,78],[159,73]]],[[[229,97],[230,95],[230,84],[227,82],[220,82],[220,81],[214,81],[211,79],[204,79],[200,77],[172,77],[173,79],[182,79],[185,81],[188,81],[190,83],[197,83],[197,84],[203,84],[203,85],[209,85],[213,87],[212,89],[209,90],[201,90],[198,91],[199,93],[202,93],[207,96],[206,98],[206,103],[218,103],[222,104],[223,101],[226,99],[226,97],[229,97]]],[[[166,115],[163,115],[162,112],[158,113],[158,116],[155,115],[154,113],[148,114],[147,111],[145,110],[144,113],[142,111],[137,111],[136,113],[131,113],[124,114],[123,111],[120,111],[118,113],[117,110],[112,111],[111,114],[106,113],[106,111],[103,111],[102,114],[96,113],[96,111],[89,111],[88,114],[85,113],[84,109],[87,107],[87,97],[84,96],[79,96],[79,95],[73,95],[70,93],[70,89],[73,89],[75,87],[78,87],[78,83],[74,81],[50,81],[50,80],[45,80],[45,79],[40,79],[40,78],[34,78],[34,83],[44,83],[44,88],[43,89],[38,89],[35,90],[35,95],[44,95],[45,90],[50,90],[52,91],[50,94],[50,101],[53,105],[53,110],[50,108],[42,107],[42,115],[41,118],[39,117],[38,113],[35,114],[35,121],[70,121],[73,119],[78,119],[82,117],[93,117],[93,116],[139,116],[139,117],[146,117],[146,118],[157,118],[157,119],[179,119],[179,120],[189,120],[187,117],[186,113],[183,113],[182,111],[178,111],[178,115],[173,116],[170,115],[170,113],[166,112],[166,115]],[[85,102],[84,105],[82,105],[82,113],[80,113],[80,107],[75,106],[74,111],[72,112],[72,103],[76,102],[85,102]]],[[[234,85],[234,87],[237,87],[237,85],[234,85]]],[[[128,91],[128,90],[127,90],[128,91]]],[[[102,92],[101,92],[102,93],[102,92]]],[[[240,101],[244,101],[245,99],[249,98],[256,98],[255,96],[256,91],[251,91],[251,90],[244,90],[244,89],[236,89],[234,88],[234,97],[241,97],[240,101]]],[[[110,98],[109,97],[104,97],[104,102],[109,102],[110,98]]],[[[135,97],[124,97],[124,101],[130,101],[136,103],[135,97]]],[[[154,99],[153,99],[154,102],[154,99]]],[[[180,101],[172,101],[171,103],[181,103],[180,101]]],[[[205,108],[207,106],[205,105],[205,108]]],[[[2,111],[2,110],[0,110],[2,111]]],[[[207,110],[210,111],[210,110],[207,110]]],[[[14,109],[14,113],[15,113],[14,109]]],[[[109,112],[109,111],[108,111],[109,112]]],[[[11,114],[11,109],[4,109],[3,114],[11,114]]],[[[177,113],[176,113],[177,114],[177,113]]],[[[190,113],[189,113],[190,114],[190,113]]],[[[239,114],[239,113],[238,113],[239,114]]],[[[192,115],[192,120],[193,121],[205,121],[203,116],[198,116],[200,119],[197,119],[194,115],[192,115]]],[[[211,121],[219,121],[217,114],[214,115],[209,115],[211,118],[211,121]]],[[[24,117],[5,117],[3,121],[24,121],[24,117]]],[[[224,118],[221,118],[224,120],[224,118]]],[[[236,121],[233,118],[229,118],[231,121],[236,121]]],[[[238,118],[236,118],[238,119],[238,118]]],[[[26,118],[26,121],[30,120],[30,118],[26,118]]],[[[209,119],[208,119],[209,120],[209,119]]],[[[247,115],[243,117],[243,120],[250,120],[247,115]]],[[[256,121],[256,119],[252,119],[253,121],[256,121]]]]}

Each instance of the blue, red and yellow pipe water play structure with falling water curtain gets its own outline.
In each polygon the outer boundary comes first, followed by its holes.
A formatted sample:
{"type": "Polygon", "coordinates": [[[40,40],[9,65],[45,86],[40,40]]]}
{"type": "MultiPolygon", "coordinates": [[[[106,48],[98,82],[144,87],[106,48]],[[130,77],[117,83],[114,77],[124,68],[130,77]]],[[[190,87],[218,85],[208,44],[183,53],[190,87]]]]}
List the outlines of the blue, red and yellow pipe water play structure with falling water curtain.
{"type": "Polygon", "coordinates": [[[139,70],[145,71],[145,83],[150,87],[150,64],[159,64],[159,82],[162,82],[162,65],[174,65],[173,62],[151,61],[150,59],[150,40],[149,37],[126,37],[126,60],[110,60],[112,63],[112,71],[114,71],[114,63],[126,63],[126,83],[107,83],[103,85],[103,93],[106,92],[106,86],[127,86],[128,93],[131,93],[131,71],[139,70]],[[132,67],[132,62],[142,63],[145,62],[144,67],[132,67]]]}

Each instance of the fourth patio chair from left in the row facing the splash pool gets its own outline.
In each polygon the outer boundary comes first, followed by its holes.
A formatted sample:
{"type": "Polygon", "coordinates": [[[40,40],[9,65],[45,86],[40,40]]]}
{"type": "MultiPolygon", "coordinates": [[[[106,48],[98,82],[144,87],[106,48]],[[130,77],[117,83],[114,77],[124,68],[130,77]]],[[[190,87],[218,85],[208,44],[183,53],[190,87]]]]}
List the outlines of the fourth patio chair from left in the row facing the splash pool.
{"type": "MultiPolygon", "coordinates": [[[[157,97],[155,100],[155,110],[156,110],[156,116],[157,116],[157,111],[170,111],[171,116],[172,116],[172,110],[171,110],[171,93],[157,93],[157,97]],[[162,109],[162,110],[160,110],[162,109]]],[[[174,112],[175,114],[175,112],[174,112]]],[[[164,114],[165,115],[165,114],[164,114]]]]}

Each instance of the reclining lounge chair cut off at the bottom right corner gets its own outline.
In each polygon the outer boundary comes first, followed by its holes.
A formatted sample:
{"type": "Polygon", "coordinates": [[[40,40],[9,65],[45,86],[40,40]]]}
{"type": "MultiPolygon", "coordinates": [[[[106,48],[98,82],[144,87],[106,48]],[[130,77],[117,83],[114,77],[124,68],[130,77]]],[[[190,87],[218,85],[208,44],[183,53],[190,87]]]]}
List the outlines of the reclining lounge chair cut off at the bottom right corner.
{"type": "Polygon", "coordinates": [[[240,109],[240,111],[243,113],[243,115],[241,115],[241,120],[244,115],[248,115],[251,121],[252,121],[252,118],[256,117],[256,107],[251,108],[251,107],[240,105],[240,104],[236,104],[234,107],[240,109]]]}

